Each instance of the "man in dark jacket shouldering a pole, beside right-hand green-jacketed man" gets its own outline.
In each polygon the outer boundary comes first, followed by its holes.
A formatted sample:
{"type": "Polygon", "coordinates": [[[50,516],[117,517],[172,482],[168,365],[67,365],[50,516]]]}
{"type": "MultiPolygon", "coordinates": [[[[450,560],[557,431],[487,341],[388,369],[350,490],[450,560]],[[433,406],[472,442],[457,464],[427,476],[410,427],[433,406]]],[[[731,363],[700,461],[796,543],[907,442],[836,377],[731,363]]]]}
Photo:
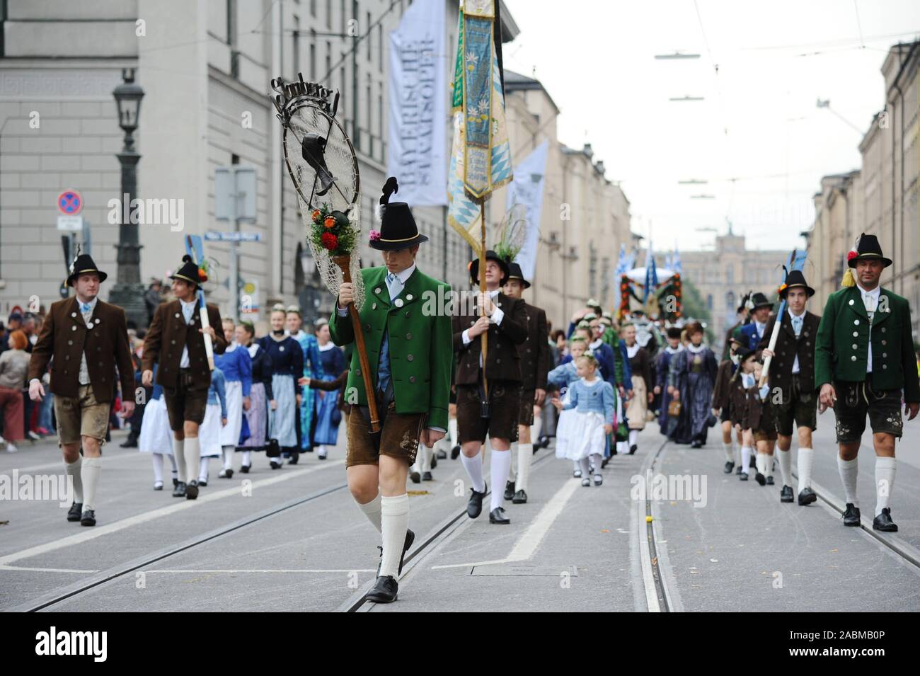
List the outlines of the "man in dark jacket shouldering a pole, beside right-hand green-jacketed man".
{"type": "Polygon", "coordinates": [[[776,324],[771,315],[757,349],[770,357],[768,384],[776,418],[776,445],[779,447],[779,472],[783,487],[780,502],[792,502],[792,445],[793,423],[799,435],[799,505],[805,506],[818,499],[811,489],[811,432],[817,429],[818,397],[814,386],[814,350],[819,315],[805,309],[814,289],[805,281],[800,270],[788,273],[780,287],[779,297],[786,301],[786,311],[779,318],[779,333],[771,351],[770,337],[776,324]],[[777,396],[779,395],[779,396],[777,396]]]}

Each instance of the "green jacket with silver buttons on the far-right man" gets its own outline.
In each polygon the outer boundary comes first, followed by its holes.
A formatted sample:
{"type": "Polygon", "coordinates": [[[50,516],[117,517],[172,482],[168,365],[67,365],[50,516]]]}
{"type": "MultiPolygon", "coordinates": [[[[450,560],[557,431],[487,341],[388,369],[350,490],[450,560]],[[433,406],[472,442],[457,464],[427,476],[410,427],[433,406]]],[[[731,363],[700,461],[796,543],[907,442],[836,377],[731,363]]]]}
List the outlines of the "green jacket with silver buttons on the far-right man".
{"type": "Polygon", "coordinates": [[[870,379],[874,390],[904,391],[904,400],[920,402],[916,376],[911,308],[907,300],[882,288],[879,308],[869,326],[862,293],[856,286],[828,296],[815,340],[814,384],[870,379]],[[871,330],[870,330],[871,329],[871,330]],[[867,373],[872,344],[872,372],[867,373]]]}

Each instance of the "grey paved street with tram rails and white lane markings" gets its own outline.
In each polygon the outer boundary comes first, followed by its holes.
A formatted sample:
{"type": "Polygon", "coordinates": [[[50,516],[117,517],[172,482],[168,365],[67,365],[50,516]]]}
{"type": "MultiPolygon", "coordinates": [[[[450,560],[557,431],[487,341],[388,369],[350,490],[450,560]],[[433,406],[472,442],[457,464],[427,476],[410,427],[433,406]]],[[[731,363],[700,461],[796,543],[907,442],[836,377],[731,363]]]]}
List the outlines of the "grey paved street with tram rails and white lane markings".
{"type": "MultiPolygon", "coordinates": [[[[907,558],[846,529],[823,499],[842,501],[831,414],[819,418],[815,435],[822,499],[807,508],[781,504],[778,486],[723,475],[713,437],[700,450],[662,448],[650,425],[635,456],[611,461],[602,487],[581,487],[552,449],[537,453],[531,500],[508,505],[509,526],[490,525],[485,514],[466,518],[466,475],[458,461],[442,460],[435,481],[408,485],[417,539],[399,602],[386,606],[358,603],[374,576],[379,536],[345,487],[341,444],[326,461],[308,453],[278,471],[257,455],[252,473],[231,480],[216,478],[214,462],[211,483],[190,501],[155,492],[150,458],[119,448],[117,433],[105,449],[95,528],[64,521],[56,501],[0,502],[0,608],[917,611],[920,567],[909,558],[920,560],[920,424],[907,430],[892,500],[901,531],[883,536],[907,558]],[[700,507],[652,501],[661,605],[643,543],[645,504],[630,495],[630,479],[653,460],[656,473],[696,477],[705,487],[695,496],[700,507]]],[[[2,453],[0,474],[58,473],[58,453],[47,441],[2,453]]],[[[870,528],[874,460],[860,458],[870,528]]]]}

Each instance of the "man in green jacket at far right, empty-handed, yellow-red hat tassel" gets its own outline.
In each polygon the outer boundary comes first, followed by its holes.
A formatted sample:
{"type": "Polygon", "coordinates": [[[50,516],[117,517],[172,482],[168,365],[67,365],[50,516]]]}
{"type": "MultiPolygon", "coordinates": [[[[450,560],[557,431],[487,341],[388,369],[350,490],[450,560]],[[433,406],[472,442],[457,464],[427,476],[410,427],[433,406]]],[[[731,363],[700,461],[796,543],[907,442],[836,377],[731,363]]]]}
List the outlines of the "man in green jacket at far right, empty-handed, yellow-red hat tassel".
{"type": "Polygon", "coordinates": [[[920,382],[914,370],[910,305],[879,285],[891,258],[881,255],[875,235],[860,235],[847,254],[857,281],[847,271],[845,288],[832,293],[824,306],[815,345],[815,387],[821,412],[834,408],[840,454],[837,467],[844,483],[844,525],[859,525],[857,453],[866,430],[866,414],[875,446],[876,509],[872,528],[896,533],[891,521],[894,485],[894,440],[901,437],[901,396],[913,420],[920,408],[920,382]],[[850,281],[849,284],[847,282],[850,281]]]}

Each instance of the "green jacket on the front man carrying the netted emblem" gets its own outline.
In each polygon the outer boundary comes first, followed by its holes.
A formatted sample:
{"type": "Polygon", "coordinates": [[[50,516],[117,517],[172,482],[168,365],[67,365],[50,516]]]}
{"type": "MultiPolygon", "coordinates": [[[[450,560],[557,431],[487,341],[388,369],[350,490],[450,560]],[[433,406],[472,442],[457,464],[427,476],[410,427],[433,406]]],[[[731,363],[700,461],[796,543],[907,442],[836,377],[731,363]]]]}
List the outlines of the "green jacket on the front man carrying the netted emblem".
{"type": "MultiPolygon", "coordinates": [[[[397,413],[426,413],[428,427],[446,430],[454,338],[442,299],[450,299],[450,286],[416,268],[391,303],[384,266],[362,269],[361,274],[365,297],[359,316],[374,388],[386,331],[397,413]]],[[[329,334],[336,345],[353,343],[351,317],[333,310],[329,334]]],[[[357,350],[352,351],[345,401],[367,406],[361,361],[357,350]]]]}

